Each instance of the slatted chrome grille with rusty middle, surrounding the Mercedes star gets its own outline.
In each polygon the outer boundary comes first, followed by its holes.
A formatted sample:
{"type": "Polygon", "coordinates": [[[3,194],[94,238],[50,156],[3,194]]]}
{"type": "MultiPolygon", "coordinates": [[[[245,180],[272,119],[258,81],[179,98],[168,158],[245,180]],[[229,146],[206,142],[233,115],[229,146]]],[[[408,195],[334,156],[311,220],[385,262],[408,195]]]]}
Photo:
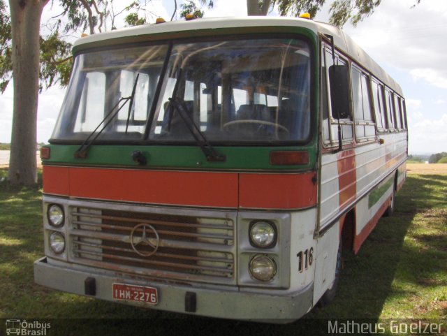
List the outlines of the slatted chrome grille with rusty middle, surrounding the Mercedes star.
{"type": "Polygon", "coordinates": [[[71,207],[73,261],[149,277],[233,282],[234,232],[233,220],[226,218],[71,207]],[[140,256],[132,247],[138,224],[159,235],[152,256],[140,256]]]}

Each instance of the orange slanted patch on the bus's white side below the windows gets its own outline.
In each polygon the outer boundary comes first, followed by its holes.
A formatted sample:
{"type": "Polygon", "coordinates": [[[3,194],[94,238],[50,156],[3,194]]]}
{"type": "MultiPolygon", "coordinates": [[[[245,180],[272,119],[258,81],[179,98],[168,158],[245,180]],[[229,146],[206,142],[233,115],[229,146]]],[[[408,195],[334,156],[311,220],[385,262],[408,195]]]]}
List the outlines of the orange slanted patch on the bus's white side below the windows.
{"type": "Polygon", "coordinates": [[[340,210],[356,200],[356,152],[348,149],[337,154],[340,210]]]}

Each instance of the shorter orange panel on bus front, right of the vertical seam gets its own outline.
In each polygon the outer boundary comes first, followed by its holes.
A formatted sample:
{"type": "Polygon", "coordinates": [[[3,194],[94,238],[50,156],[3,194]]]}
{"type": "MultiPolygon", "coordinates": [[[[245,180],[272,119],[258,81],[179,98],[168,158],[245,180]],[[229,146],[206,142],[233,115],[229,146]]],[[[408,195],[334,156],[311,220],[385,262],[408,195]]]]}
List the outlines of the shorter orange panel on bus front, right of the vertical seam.
{"type": "Polygon", "coordinates": [[[240,207],[299,209],[316,205],[316,173],[240,174],[240,207]]]}

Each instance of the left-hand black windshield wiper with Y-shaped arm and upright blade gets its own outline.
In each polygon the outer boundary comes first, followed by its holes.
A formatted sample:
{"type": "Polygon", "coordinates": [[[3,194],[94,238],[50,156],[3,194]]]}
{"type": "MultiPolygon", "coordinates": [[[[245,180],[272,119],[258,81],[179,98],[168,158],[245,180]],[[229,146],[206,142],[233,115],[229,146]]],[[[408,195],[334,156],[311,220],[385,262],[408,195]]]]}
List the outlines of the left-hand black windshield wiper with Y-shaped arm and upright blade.
{"type": "Polygon", "coordinates": [[[78,150],[75,152],[75,158],[76,159],[85,159],[87,157],[87,152],[89,150],[89,147],[95,142],[95,140],[98,138],[98,136],[100,136],[101,133],[103,133],[104,129],[108,126],[108,124],[110,124],[110,122],[112,122],[112,120],[115,118],[115,116],[118,114],[118,112],[122,108],[124,108],[124,105],[126,105],[126,103],[129,101],[129,112],[128,112],[128,115],[127,115],[127,122],[126,122],[126,133],[127,133],[127,128],[129,127],[129,119],[131,117],[133,98],[135,96],[135,91],[136,91],[137,82],[138,82],[138,76],[140,76],[140,74],[138,74],[137,77],[135,78],[135,82],[133,83],[133,89],[132,89],[131,95],[129,97],[119,98],[119,101],[110,109],[108,114],[105,115],[104,119],[102,119],[101,122],[98,124],[98,126],[96,126],[96,129],[94,129],[89,134],[89,136],[87,136],[87,139],[84,140],[82,145],[80,145],[78,150]],[[122,101],[124,101],[124,103],[121,106],[119,106],[119,103],[121,103],[122,101]],[[114,110],[118,106],[119,106],[119,108],[114,112],[114,110]],[[107,120],[107,122],[105,122],[105,120],[107,120]],[[104,124],[103,127],[98,131],[99,127],[101,127],[102,124],[104,124]],[[96,131],[98,131],[98,133],[96,133],[96,131]],[[94,136],[95,133],[96,133],[96,136],[94,136]],[[94,138],[90,140],[90,138],[92,136],[94,136],[94,138]]]}

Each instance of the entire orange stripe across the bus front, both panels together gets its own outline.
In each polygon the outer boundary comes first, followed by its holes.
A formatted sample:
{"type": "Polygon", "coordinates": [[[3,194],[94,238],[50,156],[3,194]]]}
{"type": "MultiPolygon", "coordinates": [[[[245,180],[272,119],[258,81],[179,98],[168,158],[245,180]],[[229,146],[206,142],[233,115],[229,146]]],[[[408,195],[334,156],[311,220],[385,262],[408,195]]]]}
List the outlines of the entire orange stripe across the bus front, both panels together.
{"type": "Polygon", "coordinates": [[[316,173],[238,174],[44,166],[43,192],[163,205],[299,209],[316,205],[316,173]]]}

